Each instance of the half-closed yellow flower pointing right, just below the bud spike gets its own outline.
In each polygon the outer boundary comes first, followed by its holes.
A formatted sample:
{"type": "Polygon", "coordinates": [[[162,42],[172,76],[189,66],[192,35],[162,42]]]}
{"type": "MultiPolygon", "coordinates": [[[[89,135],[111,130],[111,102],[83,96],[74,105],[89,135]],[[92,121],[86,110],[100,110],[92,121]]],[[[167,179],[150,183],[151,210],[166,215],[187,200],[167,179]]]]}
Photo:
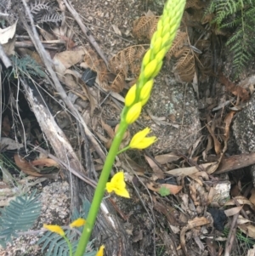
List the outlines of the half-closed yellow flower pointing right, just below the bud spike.
{"type": "Polygon", "coordinates": [[[143,150],[156,141],[156,136],[146,137],[150,133],[150,128],[144,128],[142,131],[133,135],[129,143],[129,147],[133,149],[143,150]]]}

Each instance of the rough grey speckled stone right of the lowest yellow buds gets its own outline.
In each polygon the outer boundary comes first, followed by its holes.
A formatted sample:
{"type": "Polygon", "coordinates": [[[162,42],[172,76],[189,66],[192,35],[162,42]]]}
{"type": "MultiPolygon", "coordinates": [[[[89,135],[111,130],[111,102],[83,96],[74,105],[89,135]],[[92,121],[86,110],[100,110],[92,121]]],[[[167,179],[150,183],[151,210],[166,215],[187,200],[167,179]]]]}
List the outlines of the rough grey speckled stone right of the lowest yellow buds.
{"type": "Polygon", "coordinates": [[[201,135],[197,100],[190,84],[179,83],[169,75],[157,77],[144,113],[146,111],[150,117],[159,119],[158,122],[153,118],[146,120],[142,115],[142,123],[150,127],[158,138],[150,147],[155,154],[169,151],[184,153],[201,135]]]}

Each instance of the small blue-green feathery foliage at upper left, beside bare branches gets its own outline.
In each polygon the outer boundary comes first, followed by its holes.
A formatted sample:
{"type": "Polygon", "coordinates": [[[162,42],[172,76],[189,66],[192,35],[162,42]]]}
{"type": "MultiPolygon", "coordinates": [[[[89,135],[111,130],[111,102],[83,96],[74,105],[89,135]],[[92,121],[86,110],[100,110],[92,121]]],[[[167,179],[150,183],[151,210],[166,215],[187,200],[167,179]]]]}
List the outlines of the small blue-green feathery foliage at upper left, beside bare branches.
{"type": "Polygon", "coordinates": [[[45,73],[42,71],[42,67],[37,63],[36,60],[32,59],[29,55],[23,58],[18,58],[16,55],[10,58],[14,65],[13,73],[14,77],[36,76],[45,77],[45,73]]]}

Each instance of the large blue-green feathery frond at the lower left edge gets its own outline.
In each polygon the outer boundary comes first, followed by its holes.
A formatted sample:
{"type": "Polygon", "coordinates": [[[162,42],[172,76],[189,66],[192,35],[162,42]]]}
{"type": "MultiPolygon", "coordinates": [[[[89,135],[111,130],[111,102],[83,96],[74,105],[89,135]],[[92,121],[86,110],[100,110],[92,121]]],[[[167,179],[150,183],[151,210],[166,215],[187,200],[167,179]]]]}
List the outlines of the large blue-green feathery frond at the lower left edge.
{"type": "Polygon", "coordinates": [[[29,230],[40,215],[41,203],[34,191],[31,196],[17,196],[15,200],[1,210],[0,219],[0,244],[6,247],[12,242],[17,232],[29,230]]]}

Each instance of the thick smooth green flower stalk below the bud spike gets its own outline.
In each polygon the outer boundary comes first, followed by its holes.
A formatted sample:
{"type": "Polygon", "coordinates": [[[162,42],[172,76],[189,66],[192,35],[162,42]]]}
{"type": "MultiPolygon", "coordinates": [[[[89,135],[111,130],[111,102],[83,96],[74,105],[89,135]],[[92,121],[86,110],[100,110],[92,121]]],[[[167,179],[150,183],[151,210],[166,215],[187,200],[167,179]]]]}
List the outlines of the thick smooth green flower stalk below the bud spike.
{"type": "Polygon", "coordinates": [[[126,130],[127,130],[127,123],[124,121],[121,121],[118,131],[116,133],[116,136],[112,141],[111,149],[105,159],[105,165],[104,165],[104,168],[100,175],[96,190],[94,192],[94,198],[93,198],[93,201],[89,208],[86,225],[84,226],[84,228],[82,230],[82,236],[79,239],[79,243],[77,246],[77,251],[75,253],[75,256],[83,256],[83,253],[85,252],[89,238],[90,238],[92,230],[94,228],[94,223],[95,223],[97,215],[99,213],[100,203],[102,202],[103,197],[105,195],[105,186],[106,186],[106,183],[108,182],[108,179],[109,179],[109,176],[111,173],[111,168],[115,161],[115,157],[116,157],[118,148],[122,142],[122,138],[123,138],[123,135],[125,134],[126,130]]]}

